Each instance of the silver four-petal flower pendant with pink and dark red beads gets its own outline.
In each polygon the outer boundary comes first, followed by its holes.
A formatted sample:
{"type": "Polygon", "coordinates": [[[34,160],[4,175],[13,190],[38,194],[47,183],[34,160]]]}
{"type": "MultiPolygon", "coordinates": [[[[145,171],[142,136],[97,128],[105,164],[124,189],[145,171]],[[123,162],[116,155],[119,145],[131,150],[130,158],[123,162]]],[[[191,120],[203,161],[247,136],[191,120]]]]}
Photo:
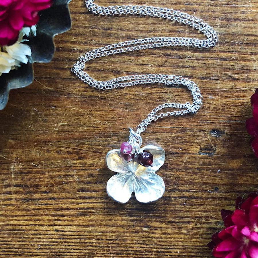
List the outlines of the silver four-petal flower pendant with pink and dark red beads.
{"type": "Polygon", "coordinates": [[[107,194],[120,203],[128,202],[132,192],[139,202],[153,202],[161,198],[165,191],[162,177],[155,173],[164,164],[165,151],[153,145],[140,148],[137,143],[140,135],[132,132],[130,129],[129,140],[123,143],[126,145],[125,148],[122,144],[120,149],[110,150],[107,153],[107,167],[118,173],[107,181],[107,194]],[[126,143],[132,146],[132,150],[130,148],[128,150],[126,143]]]}

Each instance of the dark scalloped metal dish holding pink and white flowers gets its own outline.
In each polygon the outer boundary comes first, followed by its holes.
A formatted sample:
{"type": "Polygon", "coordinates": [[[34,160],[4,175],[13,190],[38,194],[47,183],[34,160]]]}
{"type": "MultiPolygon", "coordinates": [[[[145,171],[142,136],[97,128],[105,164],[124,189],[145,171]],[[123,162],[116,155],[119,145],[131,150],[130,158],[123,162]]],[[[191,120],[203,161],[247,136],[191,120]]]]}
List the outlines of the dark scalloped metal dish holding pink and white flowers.
{"type": "Polygon", "coordinates": [[[0,110],[6,106],[11,89],[26,87],[34,81],[34,62],[47,63],[52,60],[55,52],[54,36],[66,32],[72,26],[68,6],[70,2],[71,0],[56,0],[50,8],[39,12],[37,36],[28,42],[32,49],[29,62],[0,76],[0,110]]]}

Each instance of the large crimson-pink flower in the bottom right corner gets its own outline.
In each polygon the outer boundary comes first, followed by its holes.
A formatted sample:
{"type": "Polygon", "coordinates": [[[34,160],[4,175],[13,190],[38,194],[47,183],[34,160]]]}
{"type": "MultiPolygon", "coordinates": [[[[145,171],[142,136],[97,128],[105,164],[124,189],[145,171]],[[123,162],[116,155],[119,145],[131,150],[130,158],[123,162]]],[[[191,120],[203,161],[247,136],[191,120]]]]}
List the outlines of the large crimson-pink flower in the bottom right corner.
{"type": "Polygon", "coordinates": [[[236,209],[221,210],[225,228],[208,243],[212,255],[221,258],[258,257],[258,191],[236,198],[236,209]]]}

